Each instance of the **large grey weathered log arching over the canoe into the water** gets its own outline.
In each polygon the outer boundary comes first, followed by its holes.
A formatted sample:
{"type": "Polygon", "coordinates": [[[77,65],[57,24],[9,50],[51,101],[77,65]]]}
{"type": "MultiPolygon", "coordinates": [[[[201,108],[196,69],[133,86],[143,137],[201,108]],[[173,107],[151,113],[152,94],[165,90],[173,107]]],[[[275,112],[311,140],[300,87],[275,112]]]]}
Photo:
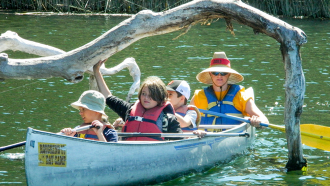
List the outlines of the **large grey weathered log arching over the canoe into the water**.
{"type": "Polygon", "coordinates": [[[36,59],[9,59],[1,54],[0,78],[26,79],[63,77],[72,82],[82,80],[83,72],[135,41],[154,35],[190,28],[199,21],[224,18],[232,30],[231,21],[253,28],[281,44],[285,63],[285,127],[289,150],[288,170],[300,170],[306,165],[300,136],[300,115],[303,110],[305,78],[302,72],[300,47],[307,42],[305,33],[280,19],[250,7],[239,0],[196,0],[169,11],[141,11],[124,20],[94,41],[70,52],[36,59]],[[143,25],[143,26],[141,26],[143,25]]]}

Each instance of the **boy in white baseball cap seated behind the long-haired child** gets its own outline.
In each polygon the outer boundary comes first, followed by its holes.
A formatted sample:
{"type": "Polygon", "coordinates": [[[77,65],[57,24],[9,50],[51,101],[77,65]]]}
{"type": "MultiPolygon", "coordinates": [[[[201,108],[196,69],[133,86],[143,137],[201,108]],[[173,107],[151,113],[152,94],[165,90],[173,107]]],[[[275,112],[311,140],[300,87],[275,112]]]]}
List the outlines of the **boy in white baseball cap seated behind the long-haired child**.
{"type": "Polygon", "coordinates": [[[183,132],[193,132],[197,130],[201,121],[201,113],[192,105],[187,105],[190,97],[190,86],[186,81],[173,80],[167,86],[169,98],[175,109],[175,116],[180,122],[183,132]]]}

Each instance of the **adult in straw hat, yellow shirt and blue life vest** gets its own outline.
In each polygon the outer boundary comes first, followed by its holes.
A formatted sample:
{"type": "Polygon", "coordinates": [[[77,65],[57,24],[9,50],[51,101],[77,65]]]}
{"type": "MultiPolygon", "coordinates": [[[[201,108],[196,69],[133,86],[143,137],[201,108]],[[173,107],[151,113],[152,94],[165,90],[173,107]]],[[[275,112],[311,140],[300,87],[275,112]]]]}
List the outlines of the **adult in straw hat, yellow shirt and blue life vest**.
{"type": "MultiPolygon", "coordinates": [[[[196,79],[211,86],[195,90],[191,105],[228,115],[249,116],[251,126],[257,129],[262,129],[260,122],[269,123],[267,117],[255,105],[253,98],[245,94],[245,88],[236,85],[244,78],[231,68],[230,61],[224,52],[215,52],[209,68],[197,74],[196,79]]],[[[201,125],[238,125],[240,123],[237,120],[202,113],[201,125]]]]}

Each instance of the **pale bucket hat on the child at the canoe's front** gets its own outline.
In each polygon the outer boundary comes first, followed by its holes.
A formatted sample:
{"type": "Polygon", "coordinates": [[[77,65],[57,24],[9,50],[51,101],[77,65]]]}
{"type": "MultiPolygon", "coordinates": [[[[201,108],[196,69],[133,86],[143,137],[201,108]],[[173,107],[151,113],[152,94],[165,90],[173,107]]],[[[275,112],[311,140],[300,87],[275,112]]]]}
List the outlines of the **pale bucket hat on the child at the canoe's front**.
{"type": "Polygon", "coordinates": [[[101,92],[95,90],[84,91],[83,94],[80,96],[79,100],[72,103],[71,106],[78,110],[79,107],[84,107],[86,109],[99,112],[105,117],[108,117],[107,114],[104,112],[104,109],[106,107],[106,99],[103,94],[101,94],[101,92]]]}

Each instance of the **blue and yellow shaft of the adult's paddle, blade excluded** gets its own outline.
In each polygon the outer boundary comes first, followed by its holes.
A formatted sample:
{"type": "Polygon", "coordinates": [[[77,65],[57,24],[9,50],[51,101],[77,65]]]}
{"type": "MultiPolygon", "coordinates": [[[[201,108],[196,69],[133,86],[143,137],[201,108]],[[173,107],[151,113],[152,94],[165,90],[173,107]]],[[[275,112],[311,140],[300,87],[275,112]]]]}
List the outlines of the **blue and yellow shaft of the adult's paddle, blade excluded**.
{"type": "MultiPolygon", "coordinates": [[[[199,109],[199,110],[200,110],[200,112],[205,113],[205,114],[210,114],[210,115],[220,116],[220,117],[226,117],[226,118],[229,118],[229,119],[234,119],[234,120],[250,123],[250,120],[244,119],[242,117],[226,115],[226,114],[213,112],[213,111],[209,111],[209,110],[203,110],[203,109],[199,109]]],[[[285,132],[285,127],[282,127],[282,126],[277,126],[277,125],[267,124],[267,123],[260,123],[260,126],[269,127],[269,128],[273,128],[273,129],[278,129],[282,132],[285,132]]],[[[312,138],[317,138],[317,139],[322,139],[322,140],[326,140],[326,141],[330,141],[330,137],[321,136],[321,135],[318,135],[318,134],[313,134],[313,133],[309,133],[309,132],[305,132],[305,131],[301,131],[301,135],[312,137],[312,138]]]]}

